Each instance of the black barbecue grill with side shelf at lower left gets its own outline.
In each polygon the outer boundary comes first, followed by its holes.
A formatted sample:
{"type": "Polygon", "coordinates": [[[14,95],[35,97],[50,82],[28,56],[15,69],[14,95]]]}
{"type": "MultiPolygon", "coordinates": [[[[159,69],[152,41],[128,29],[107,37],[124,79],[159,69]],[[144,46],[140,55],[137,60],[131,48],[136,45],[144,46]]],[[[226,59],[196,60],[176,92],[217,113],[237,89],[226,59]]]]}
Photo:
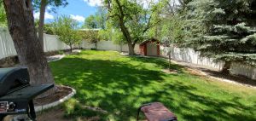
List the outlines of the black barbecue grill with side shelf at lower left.
{"type": "Polygon", "coordinates": [[[26,68],[0,69],[0,121],[7,115],[28,114],[36,119],[33,99],[54,84],[32,86],[26,68]]]}

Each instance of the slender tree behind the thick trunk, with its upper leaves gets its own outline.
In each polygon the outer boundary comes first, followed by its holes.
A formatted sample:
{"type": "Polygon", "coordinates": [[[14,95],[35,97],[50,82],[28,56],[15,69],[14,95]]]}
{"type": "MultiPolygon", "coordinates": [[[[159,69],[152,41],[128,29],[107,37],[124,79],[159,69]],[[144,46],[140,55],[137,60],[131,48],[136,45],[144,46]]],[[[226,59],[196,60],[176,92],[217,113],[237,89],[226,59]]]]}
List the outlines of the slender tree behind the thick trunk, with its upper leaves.
{"type": "Polygon", "coordinates": [[[44,49],[44,14],[47,6],[51,6],[49,11],[55,12],[55,7],[67,6],[67,0],[33,0],[34,9],[40,11],[38,39],[44,49]]]}

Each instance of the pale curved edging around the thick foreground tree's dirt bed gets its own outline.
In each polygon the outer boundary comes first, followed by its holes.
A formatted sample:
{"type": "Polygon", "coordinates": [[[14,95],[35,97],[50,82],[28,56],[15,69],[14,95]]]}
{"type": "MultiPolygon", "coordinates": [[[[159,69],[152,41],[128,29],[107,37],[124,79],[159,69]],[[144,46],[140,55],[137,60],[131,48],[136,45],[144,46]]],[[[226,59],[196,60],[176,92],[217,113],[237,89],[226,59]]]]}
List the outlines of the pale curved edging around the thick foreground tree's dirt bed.
{"type": "MultiPolygon", "coordinates": [[[[64,87],[67,87],[67,86],[64,86],[64,87]]],[[[60,105],[62,102],[69,100],[71,97],[73,97],[73,95],[76,94],[76,90],[71,88],[71,87],[67,87],[67,88],[72,89],[71,94],[61,98],[59,101],[55,101],[55,102],[52,102],[52,103],[49,103],[49,104],[46,104],[46,105],[43,105],[43,106],[37,106],[37,107],[35,107],[35,111],[36,112],[41,112],[41,111],[44,111],[44,110],[49,109],[51,107],[56,107],[56,106],[60,105]]]]}

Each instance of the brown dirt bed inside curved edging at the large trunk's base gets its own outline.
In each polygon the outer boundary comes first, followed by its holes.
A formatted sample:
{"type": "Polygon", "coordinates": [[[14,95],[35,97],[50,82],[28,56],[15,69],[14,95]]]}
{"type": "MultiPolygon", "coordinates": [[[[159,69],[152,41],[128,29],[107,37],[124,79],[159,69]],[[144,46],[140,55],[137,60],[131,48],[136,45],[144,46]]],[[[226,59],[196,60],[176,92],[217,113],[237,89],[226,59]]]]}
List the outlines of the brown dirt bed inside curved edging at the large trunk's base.
{"type": "Polygon", "coordinates": [[[53,95],[46,96],[44,98],[38,98],[34,100],[34,105],[43,106],[45,104],[49,104],[55,101],[59,101],[60,99],[64,98],[65,96],[72,93],[72,89],[65,87],[65,86],[57,86],[57,91],[53,95]]]}

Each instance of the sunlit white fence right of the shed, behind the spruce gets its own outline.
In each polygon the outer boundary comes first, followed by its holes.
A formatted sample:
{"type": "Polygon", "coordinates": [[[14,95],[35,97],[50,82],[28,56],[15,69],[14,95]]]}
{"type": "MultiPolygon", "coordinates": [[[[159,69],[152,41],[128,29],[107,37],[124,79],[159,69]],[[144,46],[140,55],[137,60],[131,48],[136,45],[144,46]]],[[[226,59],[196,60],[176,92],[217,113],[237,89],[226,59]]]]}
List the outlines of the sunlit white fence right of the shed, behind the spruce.
{"type": "MultiPolygon", "coordinates": [[[[168,51],[169,47],[160,46],[160,55],[168,57],[168,51]]],[[[196,65],[212,67],[218,71],[220,71],[224,66],[224,62],[215,62],[212,59],[200,57],[200,53],[195,52],[194,49],[171,47],[171,57],[173,60],[180,60],[196,65]]],[[[236,75],[246,76],[247,78],[256,79],[256,68],[242,63],[232,63],[230,72],[236,75]]]]}

